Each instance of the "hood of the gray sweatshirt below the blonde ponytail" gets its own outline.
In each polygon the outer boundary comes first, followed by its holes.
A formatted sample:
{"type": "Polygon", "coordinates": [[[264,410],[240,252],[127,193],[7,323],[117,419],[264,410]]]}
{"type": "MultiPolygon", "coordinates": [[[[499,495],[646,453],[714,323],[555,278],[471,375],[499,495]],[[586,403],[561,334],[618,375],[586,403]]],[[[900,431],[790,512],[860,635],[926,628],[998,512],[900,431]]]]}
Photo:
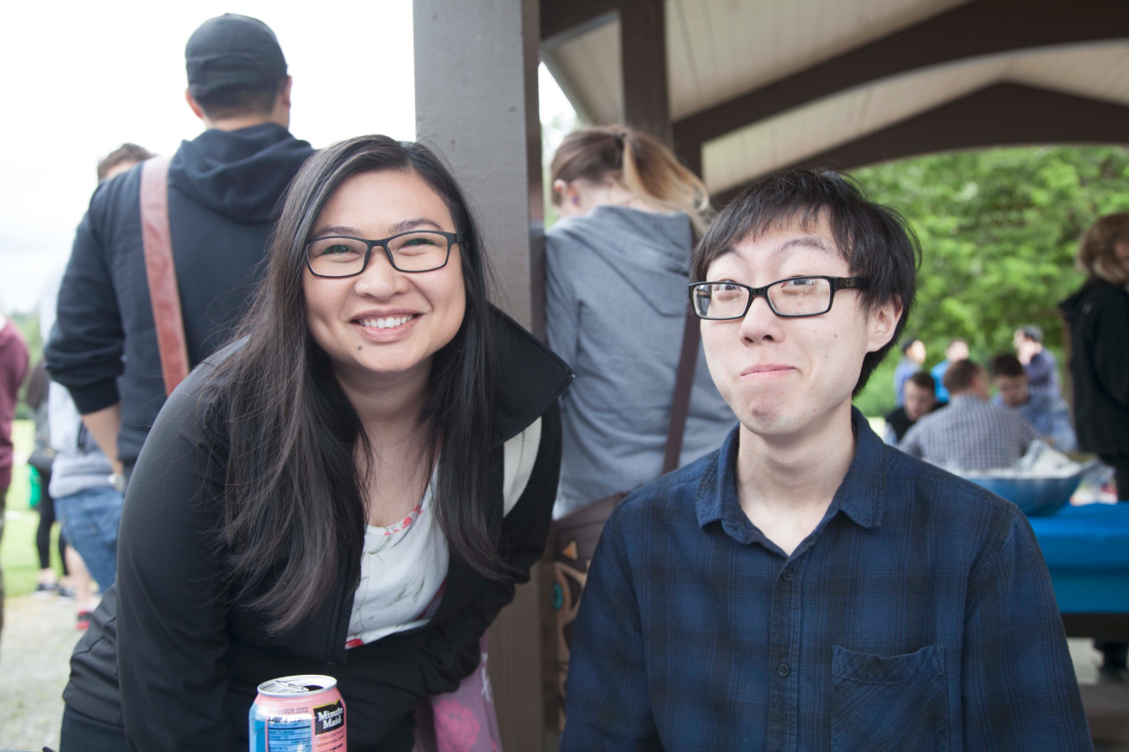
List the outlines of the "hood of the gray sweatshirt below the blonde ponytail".
{"type": "Polygon", "coordinates": [[[690,218],[682,212],[597,206],[583,216],[562,218],[546,236],[564,246],[590,248],[659,313],[685,315],[693,235],[690,218]]]}

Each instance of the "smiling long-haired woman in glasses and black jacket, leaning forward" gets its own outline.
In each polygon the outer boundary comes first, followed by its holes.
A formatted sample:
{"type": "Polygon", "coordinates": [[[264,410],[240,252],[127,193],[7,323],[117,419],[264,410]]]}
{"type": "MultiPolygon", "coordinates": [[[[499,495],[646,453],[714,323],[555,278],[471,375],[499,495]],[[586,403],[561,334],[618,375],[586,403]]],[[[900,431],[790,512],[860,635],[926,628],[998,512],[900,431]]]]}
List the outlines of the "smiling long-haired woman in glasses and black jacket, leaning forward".
{"type": "Polygon", "coordinates": [[[138,459],[61,752],[246,750],[256,687],[305,673],[338,680],[350,750],[412,750],[417,704],[475,670],[541,556],[560,474],[571,372],[488,303],[480,244],[419,144],[306,163],[242,337],[138,459]]]}

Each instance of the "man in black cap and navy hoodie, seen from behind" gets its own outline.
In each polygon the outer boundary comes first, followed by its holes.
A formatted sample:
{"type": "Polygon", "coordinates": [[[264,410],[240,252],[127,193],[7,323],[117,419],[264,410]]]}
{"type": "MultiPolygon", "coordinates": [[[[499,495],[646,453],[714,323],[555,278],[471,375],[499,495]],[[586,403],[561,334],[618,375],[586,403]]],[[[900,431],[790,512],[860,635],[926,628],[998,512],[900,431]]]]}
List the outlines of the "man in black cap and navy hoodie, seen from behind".
{"type": "MultiPolygon", "coordinates": [[[[225,15],[185,48],[192,112],[207,126],[168,169],[173,257],[189,361],[227,337],[261,274],[272,212],[313,153],[287,130],[290,77],[273,32],[225,15]]],[[[121,472],[165,402],[146,276],[141,168],[106,180],[78,227],[59,294],[47,370],[121,472]]]]}

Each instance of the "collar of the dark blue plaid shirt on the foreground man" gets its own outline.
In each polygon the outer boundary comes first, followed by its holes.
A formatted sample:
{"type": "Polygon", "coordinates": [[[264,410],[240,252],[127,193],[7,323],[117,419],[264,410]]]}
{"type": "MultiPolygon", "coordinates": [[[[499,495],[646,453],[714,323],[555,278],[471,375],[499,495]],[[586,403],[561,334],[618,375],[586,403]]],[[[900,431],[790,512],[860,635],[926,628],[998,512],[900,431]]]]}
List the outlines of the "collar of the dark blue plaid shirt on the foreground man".
{"type": "MultiPolygon", "coordinates": [[[[839,485],[826,519],[842,512],[856,524],[873,529],[882,524],[882,506],[886,495],[885,448],[870,430],[870,424],[851,407],[855,432],[855,458],[839,485]]],[[[742,543],[763,539],[763,534],[745,516],[737,499],[737,446],[741,426],[726,436],[715,462],[709,465],[698,483],[698,524],[704,528],[720,522],[726,533],[742,543]]]]}

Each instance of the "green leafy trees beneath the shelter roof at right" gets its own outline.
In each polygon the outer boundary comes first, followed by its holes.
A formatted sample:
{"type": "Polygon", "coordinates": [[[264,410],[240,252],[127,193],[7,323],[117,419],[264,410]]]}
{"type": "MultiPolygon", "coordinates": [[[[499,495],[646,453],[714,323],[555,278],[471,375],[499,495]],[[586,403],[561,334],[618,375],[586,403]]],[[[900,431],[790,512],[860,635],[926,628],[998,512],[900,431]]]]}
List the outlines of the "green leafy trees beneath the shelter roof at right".
{"type": "MultiPolygon", "coordinates": [[[[952,337],[986,361],[1012,352],[1025,324],[1062,355],[1057,304],[1082,283],[1078,238],[1103,214],[1129,211],[1129,149],[1043,147],[931,154],[854,172],[870,197],[896,209],[921,241],[918,299],[907,334],[928,365],[952,337]]],[[[856,404],[892,409],[891,353],[856,404]]]]}

